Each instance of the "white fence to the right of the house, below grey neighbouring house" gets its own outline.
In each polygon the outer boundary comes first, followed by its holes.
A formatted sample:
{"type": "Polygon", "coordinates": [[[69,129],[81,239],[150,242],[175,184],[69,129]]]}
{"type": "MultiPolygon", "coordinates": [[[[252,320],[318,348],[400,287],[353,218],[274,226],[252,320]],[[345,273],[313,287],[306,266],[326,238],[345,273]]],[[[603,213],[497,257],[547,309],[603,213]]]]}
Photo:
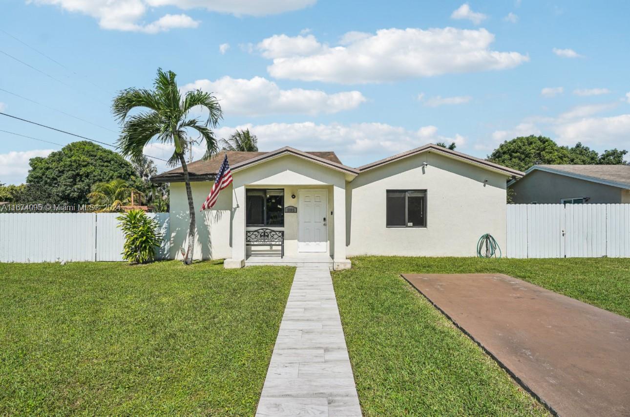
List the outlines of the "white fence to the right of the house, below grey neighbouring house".
{"type": "Polygon", "coordinates": [[[630,204],[508,204],[507,256],[630,257],[630,204]]]}

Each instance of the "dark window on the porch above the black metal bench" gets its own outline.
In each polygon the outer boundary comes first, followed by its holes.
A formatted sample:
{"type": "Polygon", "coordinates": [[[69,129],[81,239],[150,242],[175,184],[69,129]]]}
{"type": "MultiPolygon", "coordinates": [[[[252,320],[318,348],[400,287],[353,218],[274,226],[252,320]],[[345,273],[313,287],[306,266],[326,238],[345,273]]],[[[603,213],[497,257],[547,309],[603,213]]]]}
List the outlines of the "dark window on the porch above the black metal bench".
{"type": "Polygon", "coordinates": [[[247,190],[248,226],[284,226],[284,190],[247,190]]]}

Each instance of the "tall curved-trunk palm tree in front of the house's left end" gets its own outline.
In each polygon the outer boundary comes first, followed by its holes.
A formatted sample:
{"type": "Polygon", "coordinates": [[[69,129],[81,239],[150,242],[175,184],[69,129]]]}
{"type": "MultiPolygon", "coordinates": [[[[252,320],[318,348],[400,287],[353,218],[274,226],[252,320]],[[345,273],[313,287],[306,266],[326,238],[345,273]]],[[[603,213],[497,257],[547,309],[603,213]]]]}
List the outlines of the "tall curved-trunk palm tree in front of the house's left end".
{"type": "Polygon", "coordinates": [[[112,111],[122,124],[118,146],[123,156],[129,156],[135,161],[140,160],[144,146],[153,140],[173,144],[175,150],[169,158],[169,165],[181,164],[190,214],[188,250],[185,252],[184,263],[192,264],[195,249],[195,206],[184,156],[188,147],[192,146],[188,133],[190,129],[197,131],[200,136],[199,139],[205,148],[203,159],[210,158],[219,150],[217,139],[211,130],[222,119],[221,106],[217,98],[201,90],[187,91],[182,97],[175,81],[175,73],[159,68],[153,90],[127,88],[120,91],[114,98],[112,111]],[[190,110],[197,106],[208,111],[208,119],[205,122],[188,117],[190,110]],[[129,112],[136,108],[144,110],[129,115],[129,112]]]}

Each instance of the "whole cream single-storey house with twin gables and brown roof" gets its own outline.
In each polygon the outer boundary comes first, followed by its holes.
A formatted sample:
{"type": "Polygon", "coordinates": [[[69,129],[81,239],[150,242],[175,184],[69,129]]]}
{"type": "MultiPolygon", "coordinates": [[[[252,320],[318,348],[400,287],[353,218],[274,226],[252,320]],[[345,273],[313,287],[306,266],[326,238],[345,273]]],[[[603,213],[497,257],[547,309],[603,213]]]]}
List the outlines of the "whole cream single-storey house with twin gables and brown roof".
{"type": "MultiPolygon", "coordinates": [[[[188,165],[195,208],[223,158],[188,165]]],[[[247,245],[246,231],[258,228],[284,231],[285,257],[325,254],[335,269],[350,267],[352,255],[474,256],[484,233],[505,248],[507,180],[524,175],[434,144],[359,168],[333,152],[293,148],[227,158],[234,182],[197,213],[194,254],[226,258],[226,267],[269,249],[247,245]]],[[[181,168],[152,180],[170,183],[171,255],[180,257],[188,231],[181,168]]]]}

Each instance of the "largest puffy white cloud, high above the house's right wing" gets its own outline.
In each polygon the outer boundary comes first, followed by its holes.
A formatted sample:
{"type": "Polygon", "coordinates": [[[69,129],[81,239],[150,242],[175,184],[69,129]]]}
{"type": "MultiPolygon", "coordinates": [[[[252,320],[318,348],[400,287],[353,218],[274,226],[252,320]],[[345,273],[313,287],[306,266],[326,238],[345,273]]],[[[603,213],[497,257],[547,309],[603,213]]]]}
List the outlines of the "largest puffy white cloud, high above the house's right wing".
{"type": "Polygon", "coordinates": [[[350,32],[345,45],[321,44],[313,35],[274,35],[258,44],[274,78],[335,83],[382,83],[448,73],[513,68],[529,61],[518,52],[490,49],[495,35],[485,29],[382,29],[350,32]]]}

